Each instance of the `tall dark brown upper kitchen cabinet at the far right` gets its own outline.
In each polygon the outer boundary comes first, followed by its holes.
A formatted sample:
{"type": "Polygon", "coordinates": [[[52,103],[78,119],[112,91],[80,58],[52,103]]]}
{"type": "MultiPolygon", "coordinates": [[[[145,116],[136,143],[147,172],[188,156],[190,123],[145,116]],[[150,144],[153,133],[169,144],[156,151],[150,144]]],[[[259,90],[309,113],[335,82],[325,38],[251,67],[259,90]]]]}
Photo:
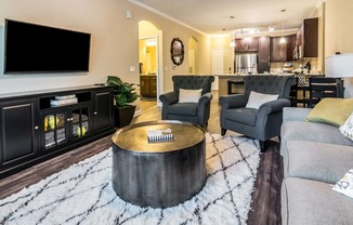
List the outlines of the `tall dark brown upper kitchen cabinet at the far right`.
{"type": "Polygon", "coordinates": [[[317,57],[318,18],[305,18],[297,32],[299,57],[317,57]]]}

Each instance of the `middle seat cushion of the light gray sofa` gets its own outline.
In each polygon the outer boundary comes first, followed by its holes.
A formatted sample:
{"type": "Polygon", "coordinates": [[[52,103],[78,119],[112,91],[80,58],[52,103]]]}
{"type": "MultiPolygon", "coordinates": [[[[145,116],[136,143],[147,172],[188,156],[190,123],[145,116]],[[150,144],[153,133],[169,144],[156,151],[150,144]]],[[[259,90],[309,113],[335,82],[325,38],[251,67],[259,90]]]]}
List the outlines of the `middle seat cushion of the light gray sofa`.
{"type": "Polygon", "coordinates": [[[353,147],[350,146],[289,141],[287,150],[285,176],[336,184],[353,166],[353,147]]]}

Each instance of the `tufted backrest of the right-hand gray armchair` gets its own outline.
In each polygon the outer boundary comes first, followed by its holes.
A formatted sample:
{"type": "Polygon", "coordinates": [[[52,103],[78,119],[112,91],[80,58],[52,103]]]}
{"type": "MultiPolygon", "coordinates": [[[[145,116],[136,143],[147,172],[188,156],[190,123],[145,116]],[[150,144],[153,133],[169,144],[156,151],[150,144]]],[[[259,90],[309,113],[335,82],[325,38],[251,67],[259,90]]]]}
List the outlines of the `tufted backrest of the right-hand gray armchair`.
{"type": "Polygon", "coordinates": [[[244,77],[245,94],[251,91],[263,94],[278,94],[278,98],[288,98],[290,88],[295,82],[293,76],[248,75],[244,77]]]}

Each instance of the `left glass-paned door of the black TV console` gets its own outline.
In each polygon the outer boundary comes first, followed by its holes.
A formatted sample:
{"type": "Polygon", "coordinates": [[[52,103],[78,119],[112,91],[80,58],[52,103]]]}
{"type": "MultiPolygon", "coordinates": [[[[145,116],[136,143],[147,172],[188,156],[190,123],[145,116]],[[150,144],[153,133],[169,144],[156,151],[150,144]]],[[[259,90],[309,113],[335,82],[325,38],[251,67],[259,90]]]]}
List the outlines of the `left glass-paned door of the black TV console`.
{"type": "Polygon", "coordinates": [[[67,143],[65,112],[45,115],[43,120],[45,149],[67,143]]]}

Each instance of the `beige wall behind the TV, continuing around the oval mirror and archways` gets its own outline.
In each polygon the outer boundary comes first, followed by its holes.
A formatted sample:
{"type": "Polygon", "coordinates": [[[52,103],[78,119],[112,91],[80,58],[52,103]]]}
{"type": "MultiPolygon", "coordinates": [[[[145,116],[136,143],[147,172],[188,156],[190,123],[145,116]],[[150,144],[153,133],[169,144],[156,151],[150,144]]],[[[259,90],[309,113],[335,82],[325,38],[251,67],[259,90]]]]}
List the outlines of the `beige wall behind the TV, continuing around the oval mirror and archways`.
{"type": "MultiPolygon", "coordinates": [[[[149,21],[162,30],[165,91],[171,90],[171,76],[187,72],[187,55],[183,65],[172,69],[170,41],[189,37],[199,41],[199,71],[210,71],[210,40],[207,36],[166,19],[126,0],[1,0],[0,1],[0,94],[105,82],[107,75],[139,82],[139,22],[149,21]],[[126,17],[126,11],[133,18],[126,17]],[[80,30],[92,34],[90,72],[4,76],[4,18],[80,30]],[[130,71],[130,67],[135,71],[130,71]]],[[[187,44],[185,44],[187,52],[187,44]]]]}

